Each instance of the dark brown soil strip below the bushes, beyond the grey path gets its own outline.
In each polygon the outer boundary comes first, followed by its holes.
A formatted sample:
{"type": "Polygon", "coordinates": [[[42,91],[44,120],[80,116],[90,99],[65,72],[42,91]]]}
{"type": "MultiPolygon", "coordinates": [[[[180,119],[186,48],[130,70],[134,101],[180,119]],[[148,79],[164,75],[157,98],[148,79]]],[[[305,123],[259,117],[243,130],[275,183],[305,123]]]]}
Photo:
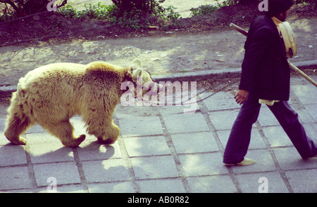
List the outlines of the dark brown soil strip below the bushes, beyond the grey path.
{"type": "MultiPolygon", "coordinates": [[[[258,10],[258,2],[250,1],[246,5],[225,6],[211,13],[211,15],[180,18],[176,22],[162,22],[156,18],[149,18],[151,26],[153,26],[152,29],[135,31],[113,26],[104,20],[70,19],[58,13],[44,12],[18,20],[1,22],[0,46],[23,43],[37,44],[39,41],[61,44],[74,41],[74,39],[91,41],[135,36],[172,36],[223,32],[230,29],[230,22],[247,28],[251,20],[257,15],[261,15],[258,10]],[[166,27],[166,25],[170,26],[166,27]]],[[[311,1],[310,5],[297,4],[293,6],[288,20],[293,22],[299,19],[309,20],[311,18],[316,18],[316,1],[311,1]]]]}

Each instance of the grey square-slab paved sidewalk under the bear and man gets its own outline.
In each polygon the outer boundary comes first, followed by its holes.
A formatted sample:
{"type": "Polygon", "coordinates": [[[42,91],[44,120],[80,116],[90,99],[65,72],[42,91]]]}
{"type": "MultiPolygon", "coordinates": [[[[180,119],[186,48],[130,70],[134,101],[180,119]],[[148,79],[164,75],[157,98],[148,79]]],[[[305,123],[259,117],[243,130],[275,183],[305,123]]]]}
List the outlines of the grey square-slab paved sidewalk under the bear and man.
{"type": "MultiPolygon", "coordinates": [[[[292,77],[290,103],[317,142],[316,88],[302,79],[292,77]]],[[[301,159],[266,106],[247,154],[256,164],[224,166],[240,106],[232,91],[199,92],[206,99],[193,114],[183,113],[188,106],[118,105],[121,135],[108,146],[87,135],[80,147],[63,147],[40,126],[27,131],[27,145],[11,145],[1,116],[0,192],[47,192],[55,181],[57,192],[259,192],[266,178],[268,192],[317,192],[317,158],[301,159]]],[[[71,122],[76,135],[85,133],[80,117],[71,122]]]]}

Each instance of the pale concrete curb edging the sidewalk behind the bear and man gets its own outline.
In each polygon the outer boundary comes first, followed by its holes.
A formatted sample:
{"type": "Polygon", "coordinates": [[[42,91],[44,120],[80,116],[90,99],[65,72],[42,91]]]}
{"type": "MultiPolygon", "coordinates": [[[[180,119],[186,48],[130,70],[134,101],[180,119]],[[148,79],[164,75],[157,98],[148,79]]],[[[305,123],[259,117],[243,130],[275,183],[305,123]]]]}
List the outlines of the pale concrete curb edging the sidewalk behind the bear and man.
{"type": "MultiPolygon", "coordinates": [[[[306,60],[301,62],[292,62],[299,69],[316,69],[317,60],[306,60]]],[[[175,73],[175,74],[163,74],[163,75],[153,75],[153,79],[156,82],[159,81],[202,81],[211,78],[223,78],[230,74],[239,74],[241,72],[241,67],[238,68],[228,68],[228,69],[209,69],[197,72],[185,72],[185,73],[175,73]]],[[[17,86],[0,86],[0,93],[13,92],[17,90],[17,86]]]]}

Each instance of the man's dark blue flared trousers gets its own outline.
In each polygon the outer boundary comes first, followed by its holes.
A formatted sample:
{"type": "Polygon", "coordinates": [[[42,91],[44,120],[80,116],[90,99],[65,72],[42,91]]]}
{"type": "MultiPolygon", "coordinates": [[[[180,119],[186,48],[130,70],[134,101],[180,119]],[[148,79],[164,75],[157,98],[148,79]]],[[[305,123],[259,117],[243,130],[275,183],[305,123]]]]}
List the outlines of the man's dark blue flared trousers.
{"type": "MultiPolygon", "coordinates": [[[[278,122],[303,159],[317,154],[317,146],[306,134],[302,123],[299,122],[297,113],[294,112],[294,109],[290,107],[287,101],[275,102],[273,106],[268,106],[268,108],[278,119],[278,122]]],[[[224,163],[234,164],[243,161],[249,147],[252,124],[258,119],[260,109],[259,98],[250,93],[248,100],[242,105],[232,126],[232,131],[225,147],[224,163]]]]}

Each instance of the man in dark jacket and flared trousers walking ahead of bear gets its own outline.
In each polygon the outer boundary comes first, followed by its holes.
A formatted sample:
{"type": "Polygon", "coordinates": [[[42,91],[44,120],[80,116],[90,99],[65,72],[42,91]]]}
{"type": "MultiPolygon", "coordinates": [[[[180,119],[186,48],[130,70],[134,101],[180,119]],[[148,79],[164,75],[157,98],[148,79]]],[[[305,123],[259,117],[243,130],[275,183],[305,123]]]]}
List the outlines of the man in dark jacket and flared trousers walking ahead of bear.
{"type": "Polygon", "coordinates": [[[306,134],[298,115],[288,104],[290,66],[278,24],[284,22],[292,0],[268,0],[268,11],[256,18],[244,44],[242,76],[235,100],[242,105],[225,147],[225,165],[251,165],[244,158],[251,138],[252,124],[261,104],[268,105],[303,159],[317,154],[317,145],[306,134]]]}

